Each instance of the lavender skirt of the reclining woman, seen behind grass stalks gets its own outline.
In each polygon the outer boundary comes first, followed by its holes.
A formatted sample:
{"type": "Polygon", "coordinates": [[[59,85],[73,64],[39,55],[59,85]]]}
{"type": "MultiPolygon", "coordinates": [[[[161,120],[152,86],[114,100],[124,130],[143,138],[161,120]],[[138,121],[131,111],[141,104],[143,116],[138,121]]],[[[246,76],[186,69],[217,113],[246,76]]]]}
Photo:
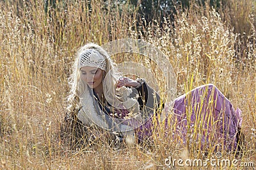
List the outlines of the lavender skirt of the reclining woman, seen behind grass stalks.
{"type": "MultiPolygon", "coordinates": [[[[236,134],[242,123],[241,111],[238,108],[235,111],[231,102],[213,84],[199,86],[176,98],[172,108],[170,103],[165,104],[162,114],[166,115],[166,134],[172,131],[173,138],[179,137],[184,144],[189,139],[190,143],[200,141],[202,148],[237,148],[236,134]]],[[[150,119],[136,130],[138,139],[147,140],[152,135],[152,129],[150,119]]]]}

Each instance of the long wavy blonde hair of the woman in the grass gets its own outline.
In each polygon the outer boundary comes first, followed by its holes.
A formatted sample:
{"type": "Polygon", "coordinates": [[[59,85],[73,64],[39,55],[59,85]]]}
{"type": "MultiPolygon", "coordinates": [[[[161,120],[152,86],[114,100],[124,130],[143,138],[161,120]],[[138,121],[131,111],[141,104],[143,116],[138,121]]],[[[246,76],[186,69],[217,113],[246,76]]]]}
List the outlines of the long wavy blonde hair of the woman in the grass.
{"type": "Polygon", "coordinates": [[[116,80],[121,76],[115,70],[115,63],[111,60],[110,56],[106,52],[106,50],[102,49],[99,45],[95,43],[88,43],[77,50],[76,60],[73,65],[72,75],[68,78],[68,84],[70,85],[70,95],[68,95],[68,111],[72,112],[74,109],[79,109],[81,105],[79,105],[79,97],[83,95],[85,91],[87,91],[87,85],[83,81],[81,81],[81,71],[79,70],[79,55],[86,49],[94,49],[97,50],[104,58],[106,58],[106,75],[103,77],[104,79],[104,95],[107,97],[106,99],[110,104],[114,104],[116,101],[120,101],[115,94],[115,83],[116,80]]]}

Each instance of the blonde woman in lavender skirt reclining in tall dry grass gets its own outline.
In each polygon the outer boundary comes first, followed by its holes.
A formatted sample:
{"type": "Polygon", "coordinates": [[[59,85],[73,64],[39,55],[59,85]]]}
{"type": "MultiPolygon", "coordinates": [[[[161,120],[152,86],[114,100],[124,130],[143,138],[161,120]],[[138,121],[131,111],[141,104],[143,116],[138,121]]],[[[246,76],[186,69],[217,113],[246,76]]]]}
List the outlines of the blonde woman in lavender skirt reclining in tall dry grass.
{"type": "Polygon", "coordinates": [[[200,141],[202,146],[240,149],[241,111],[235,111],[213,84],[189,91],[176,98],[173,105],[163,104],[144,79],[134,81],[116,72],[106,50],[93,43],[77,51],[69,82],[65,119],[72,120],[70,128],[84,143],[92,129],[143,143],[150,141],[154,128],[162,122],[165,134],[179,136],[182,143],[200,141]],[[193,140],[188,139],[188,133],[194,134],[193,140]]]}

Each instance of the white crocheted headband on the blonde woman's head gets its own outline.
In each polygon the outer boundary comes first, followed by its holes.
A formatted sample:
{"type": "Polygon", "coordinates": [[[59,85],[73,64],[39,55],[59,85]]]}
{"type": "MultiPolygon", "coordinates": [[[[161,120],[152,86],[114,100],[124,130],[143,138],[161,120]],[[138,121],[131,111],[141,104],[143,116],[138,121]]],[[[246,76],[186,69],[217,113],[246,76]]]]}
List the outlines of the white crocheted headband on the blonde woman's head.
{"type": "Polygon", "coordinates": [[[97,67],[106,71],[107,63],[106,59],[97,50],[86,49],[79,54],[79,69],[83,66],[97,67]]]}

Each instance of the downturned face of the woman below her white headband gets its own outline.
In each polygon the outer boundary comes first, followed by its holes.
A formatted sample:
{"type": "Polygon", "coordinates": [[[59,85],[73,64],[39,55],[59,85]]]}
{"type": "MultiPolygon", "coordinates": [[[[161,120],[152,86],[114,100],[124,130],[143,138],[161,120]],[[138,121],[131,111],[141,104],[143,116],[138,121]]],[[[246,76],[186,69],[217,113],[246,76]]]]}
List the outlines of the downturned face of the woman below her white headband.
{"type": "Polygon", "coordinates": [[[92,89],[102,88],[103,70],[92,66],[81,68],[81,79],[92,89]]]}

